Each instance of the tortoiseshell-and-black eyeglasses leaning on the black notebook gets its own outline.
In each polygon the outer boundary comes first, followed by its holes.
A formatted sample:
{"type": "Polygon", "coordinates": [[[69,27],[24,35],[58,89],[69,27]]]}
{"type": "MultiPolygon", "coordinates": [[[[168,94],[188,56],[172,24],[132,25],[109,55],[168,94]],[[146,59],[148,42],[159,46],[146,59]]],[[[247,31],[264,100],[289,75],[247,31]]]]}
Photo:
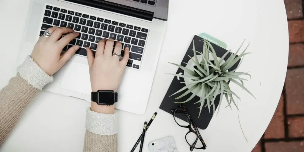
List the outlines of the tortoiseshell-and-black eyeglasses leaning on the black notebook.
{"type": "Polygon", "coordinates": [[[206,144],[199,133],[199,130],[197,129],[195,123],[193,122],[191,116],[188,114],[188,112],[185,109],[185,106],[182,104],[179,104],[178,108],[175,110],[172,109],[171,112],[173,112],[173,118],[175,122],[178,124],[178,126],[181,126],[183,128],[188,128],[189,131],[185,135],[186,142],[190,146],[190,151],[193,151],[193,149],[206,149],[206,144]],[[176,119],[176,118],[183,118],[187,117],[187,122],[176,119]]]}

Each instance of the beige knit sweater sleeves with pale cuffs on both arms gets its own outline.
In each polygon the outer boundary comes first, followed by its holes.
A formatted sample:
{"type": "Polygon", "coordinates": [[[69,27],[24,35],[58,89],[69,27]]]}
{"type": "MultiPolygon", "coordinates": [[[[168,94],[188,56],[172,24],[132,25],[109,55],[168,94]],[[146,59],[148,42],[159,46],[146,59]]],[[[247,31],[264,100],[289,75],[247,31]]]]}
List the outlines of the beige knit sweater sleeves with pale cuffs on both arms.
{"type": "MultiPolygon", "coordinates": [[[[22,111],[44,85],[53,81],[29,56],[16,77],[0,90],[0,146],[22,115],[22,111]]],[[[84,152],[116,152],[116,115],[87,109],[84,152]]]]}

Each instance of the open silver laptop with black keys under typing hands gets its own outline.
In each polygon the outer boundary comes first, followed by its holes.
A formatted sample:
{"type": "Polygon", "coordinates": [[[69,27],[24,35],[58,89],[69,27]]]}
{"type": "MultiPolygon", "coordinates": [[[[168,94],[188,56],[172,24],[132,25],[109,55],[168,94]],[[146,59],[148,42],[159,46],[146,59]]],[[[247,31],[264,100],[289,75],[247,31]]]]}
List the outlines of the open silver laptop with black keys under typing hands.
{"type": "MultiPolygon", "coordinates": [[[[80,35],[80,49],[54,74],[43,90],[91,101],[86,47],[112,38],[130,48],[130,59],[118,88],[116,109],[143,114],[154,79],[167,27],[168,0],[31,0],[19,51],[18,65],[31,53],[38,38],[52,26],[68,27],[80,35]]],[[[124,50],[124,49],[123,49],[124,50]]],[[[122,56],[124,51],[122,50],[122,56]]]]}

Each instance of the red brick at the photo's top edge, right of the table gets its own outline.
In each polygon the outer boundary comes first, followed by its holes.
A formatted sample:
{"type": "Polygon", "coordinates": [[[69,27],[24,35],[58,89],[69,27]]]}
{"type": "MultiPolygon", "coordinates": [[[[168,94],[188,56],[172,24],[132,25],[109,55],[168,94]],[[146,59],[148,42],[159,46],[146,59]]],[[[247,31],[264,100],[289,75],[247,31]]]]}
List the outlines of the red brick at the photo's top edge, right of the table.
{"type": "Polygon", "coordinates": [[[284,0],[288,19],[303,17],[302,0],[284,0]]]}

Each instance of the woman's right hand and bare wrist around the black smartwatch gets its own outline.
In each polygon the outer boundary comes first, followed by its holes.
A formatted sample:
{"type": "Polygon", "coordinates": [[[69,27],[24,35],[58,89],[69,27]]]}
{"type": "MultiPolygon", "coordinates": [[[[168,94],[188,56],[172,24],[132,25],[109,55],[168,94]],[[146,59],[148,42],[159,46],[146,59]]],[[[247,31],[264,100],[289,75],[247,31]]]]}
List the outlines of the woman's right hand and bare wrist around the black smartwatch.
{"type": "MultiPolygon", "coordinates": [[[[92,92],[98,90],[114,90],[116,92],[119,87],[130,52],[129,48],[125,48],[123,59],[119,61],[119,57],[112,56],[113,46],[113,39],[100,40],[97,45],[95,58],[92,50],[87,47],[92,92]]],[[[121,43],[116,41],[114,53],[121,54],[121,49],[121,43]]],[[[91,102],[91,110],[106,114],[114,113],[114,105],[102,106],[97,105],[96,102],[91,102]]]]}

